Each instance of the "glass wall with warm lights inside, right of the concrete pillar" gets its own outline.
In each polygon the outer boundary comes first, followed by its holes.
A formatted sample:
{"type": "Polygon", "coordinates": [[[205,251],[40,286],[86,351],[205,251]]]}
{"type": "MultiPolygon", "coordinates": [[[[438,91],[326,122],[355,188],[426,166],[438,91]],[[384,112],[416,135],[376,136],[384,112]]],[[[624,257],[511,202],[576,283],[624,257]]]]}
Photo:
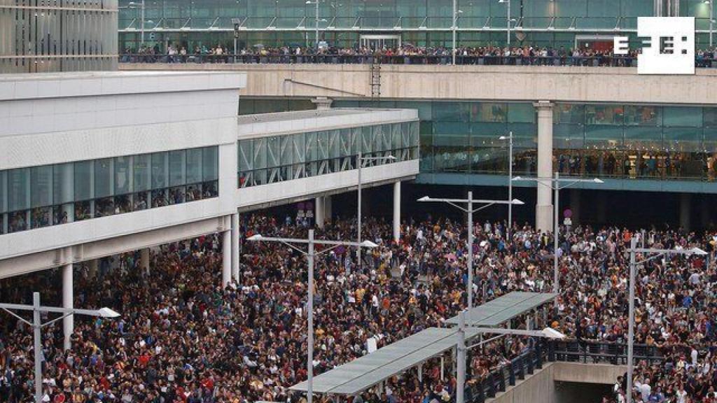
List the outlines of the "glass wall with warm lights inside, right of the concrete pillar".
{"type": "Polygon", "coordinates": [[[557,104],[554,169],[630,179],[713,180],[717,108],[557,104]]]}

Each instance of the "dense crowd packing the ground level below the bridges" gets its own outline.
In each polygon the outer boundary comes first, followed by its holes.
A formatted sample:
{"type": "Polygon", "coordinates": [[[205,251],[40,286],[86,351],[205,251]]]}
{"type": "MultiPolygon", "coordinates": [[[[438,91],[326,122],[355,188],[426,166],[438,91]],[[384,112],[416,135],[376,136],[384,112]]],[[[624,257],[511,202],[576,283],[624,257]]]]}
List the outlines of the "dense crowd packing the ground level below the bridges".
{"type": "MultiPolygon", "coordinates": [[[[242,222],[252,234],[305,237],[310,223],[292,217],[255,215],[242,222]]],[[[442,326],[465,307],[465,237],[450,219],[409,221],[402,238],[391,226],[364,222],[364,239],[379,247],[356,264],[351,250],[320,255],[315,270],[315,373],[366,354],[366,341],[379,347],[442,326]],[[347,275],[347,273],[349,273],[347,275]]],[[[476,242],[474,305],[513,290],[552,288],[552,238],[530,226],[483,222],[476,242]]],[[[318,238],[351,239],[356,223],[326,224],[318,238]]],[[[549,323],[578,341],[625,342],[627,334],[627,229],[577,227],[561,237],[561,295],[549,323]]],[[[647,232],[654,247],[702,247],[706,257],[666,257],[640,271],[636,343],[657,346],[667,359],[640,365],[635,397],[645,401],[705,402],[714,395],[717,371],[717,283],[715,242],[679,229],[647,232]],[[696,351],[696,355],[695,355],[696,351]],[[645,392],[647,391],[647,392],[645,392]],[[685,393],[680,392],[685,391],[685,393]],[[654,400],[655,394],[658,400],[654,400]],[[682,396],[682,397],[680,397],[682,396]],[[653,399],[653,400],[649,400],[653,399]],[[664,400],[663,401],[666,401],[664,400]],[[680,400],[681,399],[681,400],[680,400]]],[[[286,402],[288,387],[305,380],[307,295],[305,259],[288,247],[244,242],[242,277],[220,285],[219,237],[164,245],[153,251],[149,272],[133,254],[108,260],[98,272],[75,277],[75,306],[109,306],[118,320],[77,318],[72,349],[62,351],[58,328],[44,333],[44,397],[47,402],[286,402]]],[[[42,291],[57,305],[57,273],[28,275],[0,283],[3,302],[27,303],[42,291]]],[[[31,401],[32,337],[19,321],[0,321],[0,401],[31,401]]],[[[526,349],[521,338],[485,346],[470,357],[469,381],[480,381],[526,349]]],[[[412,372],[391,379],[383,394],[353,402],[445,402],[455,378],[440,377],[436,361],[424,366],[422,381],[412,372]]],[[[622,402],[624,387],[606,397],[622,402]]]]}

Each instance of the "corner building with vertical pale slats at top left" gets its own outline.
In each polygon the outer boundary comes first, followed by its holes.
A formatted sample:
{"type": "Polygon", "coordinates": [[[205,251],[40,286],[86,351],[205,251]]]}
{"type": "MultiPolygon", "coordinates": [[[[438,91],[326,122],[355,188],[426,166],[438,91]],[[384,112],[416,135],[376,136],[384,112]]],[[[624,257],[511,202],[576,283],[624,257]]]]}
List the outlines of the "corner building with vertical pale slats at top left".
{"type": "Polygon", "coordinates": [[[117,0],[0,0],[0,73],[117,70],[117,0]]]}

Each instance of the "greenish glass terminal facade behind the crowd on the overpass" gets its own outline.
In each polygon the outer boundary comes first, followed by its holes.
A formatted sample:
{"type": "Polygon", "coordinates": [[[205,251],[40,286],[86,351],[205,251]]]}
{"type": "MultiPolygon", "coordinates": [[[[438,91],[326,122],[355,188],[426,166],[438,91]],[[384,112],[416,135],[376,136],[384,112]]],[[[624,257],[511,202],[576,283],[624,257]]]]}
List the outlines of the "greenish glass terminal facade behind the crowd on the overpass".
{"type": "MultiPolygon", "coordinates": [[[[666,3],[666,1],[663,1],[666,3]]],[[[698,47],[708,43],[709,4],[675,0],[680,16],[695,16],[698,47]]],[[[141,10],[120,0],[120,49],[138,49],[141,10]]],[[[506,3],[457,0],[459,46],[505,44],[506,3]]],[[[674,12],[674,11],[673,11],[674,12]]],[[[511,0],[514,46],[571,48],[579,35],[630,33],[638,16],[655,15],[654,0],[511,0]]],[[[167,44],[233,49],[234,24],[239,48],[257,45],[313,46],[315,6],[305,0],[153,0],[146,2],[144,28],[149,46],[167,44]]],[[[327,0],[319,4],[320,40],[330,46],[356,47],[361,34],[400,34],[402,43],[447,47],[452,41],[452,0],[327,0]]],[[[609,39],[612,41],[612,39],[609,39]]],[[[612,45],[611,45],[612,46],[612,45]]]]}

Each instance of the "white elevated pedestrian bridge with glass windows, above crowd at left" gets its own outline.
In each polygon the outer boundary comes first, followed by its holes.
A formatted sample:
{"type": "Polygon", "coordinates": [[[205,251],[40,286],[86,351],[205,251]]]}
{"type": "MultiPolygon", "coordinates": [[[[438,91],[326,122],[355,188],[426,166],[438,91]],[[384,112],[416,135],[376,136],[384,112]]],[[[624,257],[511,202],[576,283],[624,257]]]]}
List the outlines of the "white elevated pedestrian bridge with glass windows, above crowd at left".
{"type": "Polygon", "coordinates": [[[1,77],[0,278],[221,232],[227,282],[239,212],[316,199],[323,224],[331,194],[356,189],[359,171],[363,186],[394,184],[400,205],[400,181],[419,172],[416,110],[237,117],[245,82],[240,72],[1,77]]]}

